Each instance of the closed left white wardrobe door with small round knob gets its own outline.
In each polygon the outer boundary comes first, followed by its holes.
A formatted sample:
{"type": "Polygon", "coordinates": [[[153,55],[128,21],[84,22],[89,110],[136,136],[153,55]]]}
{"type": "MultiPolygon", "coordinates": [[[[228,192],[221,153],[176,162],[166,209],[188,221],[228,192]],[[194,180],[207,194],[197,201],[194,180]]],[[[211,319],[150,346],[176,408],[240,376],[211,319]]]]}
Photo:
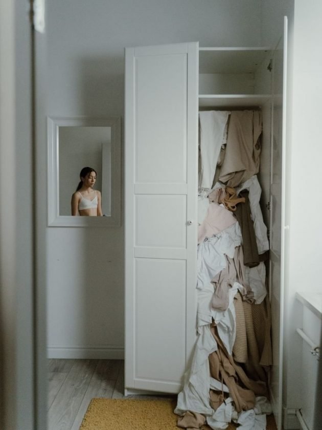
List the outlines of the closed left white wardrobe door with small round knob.
{"type": "Polygon", "coordinates": [[[126,389],[178,392],[195,340],[197,52],[125,53],[126,389]]]}

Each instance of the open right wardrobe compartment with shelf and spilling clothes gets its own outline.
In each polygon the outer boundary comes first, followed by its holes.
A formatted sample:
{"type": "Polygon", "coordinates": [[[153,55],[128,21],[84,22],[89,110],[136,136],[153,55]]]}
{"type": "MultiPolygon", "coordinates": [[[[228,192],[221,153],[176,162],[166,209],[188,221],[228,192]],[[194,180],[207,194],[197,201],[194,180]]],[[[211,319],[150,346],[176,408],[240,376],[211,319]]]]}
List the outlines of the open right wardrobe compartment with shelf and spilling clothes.
{"type": "Polygon", "coordinates": [[[261,430],[272,413],[272,67],[268,48],[199,48],[198,337],[175,409],[183,428],[261,430]]]}

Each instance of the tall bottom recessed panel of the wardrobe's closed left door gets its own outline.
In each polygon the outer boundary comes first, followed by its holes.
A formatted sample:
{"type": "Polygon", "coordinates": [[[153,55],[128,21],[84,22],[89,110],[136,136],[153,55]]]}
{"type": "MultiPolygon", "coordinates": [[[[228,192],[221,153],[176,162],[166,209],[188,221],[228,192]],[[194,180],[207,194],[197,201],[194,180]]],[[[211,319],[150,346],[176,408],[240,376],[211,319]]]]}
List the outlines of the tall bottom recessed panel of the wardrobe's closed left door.
{"type": "Polygon", "coordinates": [[[136,259],[135,284],[135,377],[179,386],[186,356],[186,261],[136,259]]]}

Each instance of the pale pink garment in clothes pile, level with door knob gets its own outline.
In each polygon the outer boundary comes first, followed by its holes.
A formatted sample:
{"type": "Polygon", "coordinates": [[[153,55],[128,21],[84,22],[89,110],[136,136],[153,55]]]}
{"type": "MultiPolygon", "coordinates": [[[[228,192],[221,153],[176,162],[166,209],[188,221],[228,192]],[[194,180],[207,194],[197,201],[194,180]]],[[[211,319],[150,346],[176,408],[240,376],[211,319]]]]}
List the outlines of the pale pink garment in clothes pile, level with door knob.
{"type": "Polygon", "coordinates": [[[217,203],[210,203],[205,219],[198,227],[198,243],[205,238],[211,238],[236,222],[237,220],[230,210],[217,203]]]}

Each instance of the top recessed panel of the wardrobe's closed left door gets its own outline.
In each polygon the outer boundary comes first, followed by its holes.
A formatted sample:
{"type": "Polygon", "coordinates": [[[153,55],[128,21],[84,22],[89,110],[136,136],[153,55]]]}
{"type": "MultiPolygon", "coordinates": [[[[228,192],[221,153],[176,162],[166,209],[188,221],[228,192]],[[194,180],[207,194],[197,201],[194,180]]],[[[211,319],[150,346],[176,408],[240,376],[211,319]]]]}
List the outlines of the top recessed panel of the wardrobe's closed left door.
{"type": "Polygon", "coordinates": [[[186,183],[187,54],[139,56],[135,70],[135,180],[186,183]]]}

